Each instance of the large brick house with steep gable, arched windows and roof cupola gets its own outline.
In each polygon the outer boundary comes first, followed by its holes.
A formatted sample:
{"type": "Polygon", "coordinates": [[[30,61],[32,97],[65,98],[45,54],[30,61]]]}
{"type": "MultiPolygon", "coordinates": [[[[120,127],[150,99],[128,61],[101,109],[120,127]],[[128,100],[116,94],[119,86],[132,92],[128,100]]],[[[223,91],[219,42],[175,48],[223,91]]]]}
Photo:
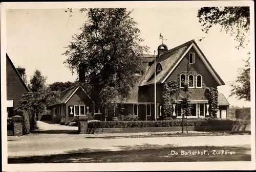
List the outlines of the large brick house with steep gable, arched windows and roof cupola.
{"type": "MultiPolygon", "coordinates": [[[[74,104],[70,101],[66,110],[69,113],[65,113],[66,117],[70,117],[74,113],[76,115],[92,112],[92,114],[100,115],[97,118],[100,120],[112,120],[112,117],[118,114],[134,114],[138,116],[139,120],[157,120],[163,114],[163,84],[172,80],[177,81],[181,86],[181,81],[190,81],[189,89],[191,90],[190,103],[193,105],[190,118],[206,117],[209,116],[209,104],[207,96],[205,94],[207,87],[217,88],[218,86],[225,85],[223,80],[220,78],[215,69],[211,66],[209,61],[206,59],[203,52],[195,40],[190,40],[182,45],[174,47],[168,50],[165,44],[158,46],[156,62],[154,61],[154,55],[143,55],[141,57],[143,61],[143,70],[138,73],[138,82],[135,83],[135,87],[130,95],[130,99],[122,105],[120,104],[115,109],[101,109],[94,108],[93,102],[90,100],[90,95],[81,87],[76,88],[79,94],[87,96],[87,102],[83,102],[80,105],[74,104]],[[156,63],[156,65],[155,65],[156,63]],[[155,69],[156,66],[156,69],[155,69]],[[155,78],[156,70],[156,78],[155,78]],[[155,114],[155,81],[156,81],[156,114],[155,114]],[[90,101],[89,101],[90,100],[90,101]],[[87,108],[91,108],[90,110],[87,108]],[[79,109],[79,110],[78,110],[79,109]],[[84,110],[85,109],[85,110],[84,110]],[[74,111],[73,111],[74,110],[74,111]]],[[[79,79],[84,79],[79,73],[79,79]]],[[[71,88],[70,92],[76,90],[71,88]]],[[[76,90],[76,91],[77,91],[76,90]]],[[[69,92],[69,91],[67,91],[69,92]]],[[[74,91],[67,93],[72,96],[74,91]]],[[[63,98],[64,99],[64,95],[63,98]]],[[[173,116],[181,118],[181,106],[179,101],[184,93],[180,90],[176,91],[173,96],[174,100],[174,113],[173,116]]],[[[67,104],[69,100],[74,99],[75,101],[81,101],[79,95],[75,95],[74,98],[67,96],[68,101],[62,101],[62,104],[67,104]]],[[[219,111],[217,117],[227,118],[229,117],[228,108],[229,103],[223,94],[218,96],[219,111]]],[[[66,98],[65,98],[66,99],[66,98]]],[[[64,109],[65,109],[64,108],[64,109]]],[[[58,113],[57,108],[53,110],[53,116],[58,113]]]]}

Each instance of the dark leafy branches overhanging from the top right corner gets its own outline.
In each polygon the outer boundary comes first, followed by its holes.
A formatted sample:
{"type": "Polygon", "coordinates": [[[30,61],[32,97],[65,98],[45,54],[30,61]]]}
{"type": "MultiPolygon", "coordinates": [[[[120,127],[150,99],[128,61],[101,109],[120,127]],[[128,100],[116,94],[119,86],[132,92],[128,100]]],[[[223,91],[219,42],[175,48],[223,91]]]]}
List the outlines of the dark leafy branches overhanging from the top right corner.
{"type": "Polygon", "coordinates": [[[244,47],[249,42],[250,9],[249,7],[202,7],[198,10],[197,17],[202,23],[202,31],[206,34],[209,29],[219,24],[226,33],[234,36],[239,42],[236,46],[244,47]]]}

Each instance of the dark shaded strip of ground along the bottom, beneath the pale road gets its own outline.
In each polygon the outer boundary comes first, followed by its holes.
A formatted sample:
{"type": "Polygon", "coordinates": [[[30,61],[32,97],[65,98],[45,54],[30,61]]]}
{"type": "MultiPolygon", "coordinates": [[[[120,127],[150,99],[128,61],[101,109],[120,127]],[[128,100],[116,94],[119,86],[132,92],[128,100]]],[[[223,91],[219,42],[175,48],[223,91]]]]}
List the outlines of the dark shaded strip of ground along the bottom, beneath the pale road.
{"type": "Polygon", "coordinates": [[[122,151],[98,150],[96,152],[90,149],[80,149],[58,155],[12,157],[8,158],[8,163],[251,161],[250,150],[250,145],[138,148],[137,150],[129,150],[127,147],[122,151]],[[228,154],[220,155],[223,150],[228,154]]]}

